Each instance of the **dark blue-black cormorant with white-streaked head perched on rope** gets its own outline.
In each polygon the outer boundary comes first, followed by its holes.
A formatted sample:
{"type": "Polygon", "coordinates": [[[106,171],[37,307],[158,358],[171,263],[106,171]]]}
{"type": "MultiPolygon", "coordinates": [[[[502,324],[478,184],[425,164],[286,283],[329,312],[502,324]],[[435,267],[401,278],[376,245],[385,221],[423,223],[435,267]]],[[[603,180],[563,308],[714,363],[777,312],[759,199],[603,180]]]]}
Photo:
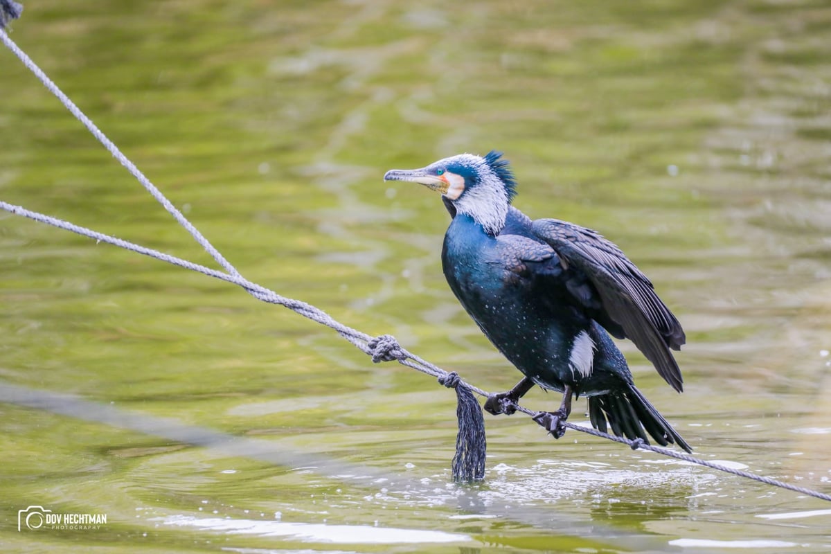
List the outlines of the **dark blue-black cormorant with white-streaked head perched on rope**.
{"type": "Polygon", "coordinates": [[[593,426],[658,444],[690,445],[635,388],[611,333],[629,338],[671,387],[681,370],[670,349],[684,331],[652,282],[595,231],[558,219],[532,221],[511,206],[514,174],[502,153],[459,154],[423,169],[391,169],[386,181],[412,181],[442,194],[452,221],[441,264],[447,282],[484,335],[525,375],[491,395],[491,414],[513,413],[534,385],[563,393],[535,419],[559,438],[572,396],[588,397],[593,426]]]}

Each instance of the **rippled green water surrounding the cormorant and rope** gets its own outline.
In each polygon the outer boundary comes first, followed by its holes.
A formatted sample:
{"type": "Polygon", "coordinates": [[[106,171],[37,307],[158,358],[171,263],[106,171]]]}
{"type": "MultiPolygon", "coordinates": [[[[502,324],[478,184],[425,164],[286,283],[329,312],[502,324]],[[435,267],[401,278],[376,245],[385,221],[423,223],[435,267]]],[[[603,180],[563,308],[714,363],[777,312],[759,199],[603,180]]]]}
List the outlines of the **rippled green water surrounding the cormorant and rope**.
{"type": "MultiPolygon", "coordinates": [[[[50,0],[12,38],[248,279],[486,390],[519,373],[446,287],[445,210],[381,176],[504,150],[519,208],[602,231],[676,311],[683,395],[622,347],[696,453],[829,492],[829,32],[800,0],[50,0]]],[[[213,264],[5,49],[0,99],[0,199],[213,264]]],[[[519,416],[455,487],[425,375],[12,215],[0,271],[3,552],[831,548],[828,503],[519,416]],[[18,532],[32,505],[107,522],[18,532]]]]}

